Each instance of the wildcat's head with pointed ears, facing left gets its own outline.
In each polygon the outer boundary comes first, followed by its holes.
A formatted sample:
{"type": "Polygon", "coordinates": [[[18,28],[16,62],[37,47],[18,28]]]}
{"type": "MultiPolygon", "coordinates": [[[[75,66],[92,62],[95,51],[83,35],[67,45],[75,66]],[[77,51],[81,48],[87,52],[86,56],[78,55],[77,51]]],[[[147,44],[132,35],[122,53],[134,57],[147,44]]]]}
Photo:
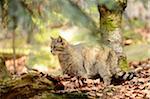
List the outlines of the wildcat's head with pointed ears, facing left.
{"type": "Polygon", "coordinates": [[[68,46],[68,42],[61,36],[59,36],[58,38],[51,37],[51,40],[51,53],[53,55],[58,55],[59,53],[62,53],[64,49],[68,46]]]}

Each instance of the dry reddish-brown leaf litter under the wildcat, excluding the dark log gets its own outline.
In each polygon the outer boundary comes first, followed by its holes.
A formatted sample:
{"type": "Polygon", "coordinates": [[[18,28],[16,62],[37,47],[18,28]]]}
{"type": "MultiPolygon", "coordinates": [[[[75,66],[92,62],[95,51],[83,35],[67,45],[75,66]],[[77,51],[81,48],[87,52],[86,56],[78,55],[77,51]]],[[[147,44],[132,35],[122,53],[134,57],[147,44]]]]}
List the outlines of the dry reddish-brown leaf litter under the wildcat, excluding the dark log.
{"type": "Polygon", "coordinates": [[[78,79],[63,76],[64,90],[57,93],[86,92],[88,97],[102,99],[150,99],[150,59],[130,62],[129,65],[136,72],[136,77],[120,85],[104,86],[102,82],[91,79],[78,79]]]}

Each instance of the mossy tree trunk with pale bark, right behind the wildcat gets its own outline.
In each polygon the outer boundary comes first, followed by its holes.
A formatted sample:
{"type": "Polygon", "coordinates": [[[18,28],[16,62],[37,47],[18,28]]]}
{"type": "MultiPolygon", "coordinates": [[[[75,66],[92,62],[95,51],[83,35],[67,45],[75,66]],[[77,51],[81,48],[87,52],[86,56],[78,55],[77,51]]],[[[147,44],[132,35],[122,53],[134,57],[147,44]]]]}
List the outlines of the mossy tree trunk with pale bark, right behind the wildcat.
{"type": "Polygon", "coordinates": [[[102,42],[111,47],[118,55],[118,64],[128,70],[127,59],[123,53],[121,20],[127,6],[127,0],[109,0],[98,4],[100,13],[100,31],[102,42]]]}

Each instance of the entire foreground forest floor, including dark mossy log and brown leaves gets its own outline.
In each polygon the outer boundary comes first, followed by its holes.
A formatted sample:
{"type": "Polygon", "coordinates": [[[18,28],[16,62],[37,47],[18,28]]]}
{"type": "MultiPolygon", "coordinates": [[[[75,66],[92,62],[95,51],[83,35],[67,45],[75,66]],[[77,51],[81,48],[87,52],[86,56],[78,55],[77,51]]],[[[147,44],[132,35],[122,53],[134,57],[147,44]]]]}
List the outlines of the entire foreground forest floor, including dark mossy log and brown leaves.
{"type": "Polygon", "coordinates": [[[10,97],[15,99],[18,96],[20,99],[150,99],[150,58],[132,61],[129,65],[136,76],[120,85],[105,86],[99,79],[91,80],[68,75],[52,77],[36,71],[37,73],[33,75],[28,73],[20,75],[22,82],[16,80],[19,83],[13,82],[13,85],[9,85],[10,88],[1,85],[1,89],[8,88],[9,91],[0,93],[0,96],[3,96],[2,99],[10,99],[10,97]]]}

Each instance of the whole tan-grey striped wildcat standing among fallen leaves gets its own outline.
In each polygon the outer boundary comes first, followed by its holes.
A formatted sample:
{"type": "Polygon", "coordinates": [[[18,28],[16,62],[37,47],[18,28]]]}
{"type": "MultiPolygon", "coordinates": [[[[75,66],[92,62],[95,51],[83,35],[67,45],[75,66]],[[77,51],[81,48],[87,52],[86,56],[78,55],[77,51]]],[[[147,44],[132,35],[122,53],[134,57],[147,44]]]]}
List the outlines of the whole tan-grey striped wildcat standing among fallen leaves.
{"type": "Polygon", "coordinates": [[[116,53],[107,46],[72,45],[61,36],[51,39],[51,53],[58,56],[64,74],[86,78],[100,75],[106,85],[113,75],[132,78],[119,68],[116,53]]]}

